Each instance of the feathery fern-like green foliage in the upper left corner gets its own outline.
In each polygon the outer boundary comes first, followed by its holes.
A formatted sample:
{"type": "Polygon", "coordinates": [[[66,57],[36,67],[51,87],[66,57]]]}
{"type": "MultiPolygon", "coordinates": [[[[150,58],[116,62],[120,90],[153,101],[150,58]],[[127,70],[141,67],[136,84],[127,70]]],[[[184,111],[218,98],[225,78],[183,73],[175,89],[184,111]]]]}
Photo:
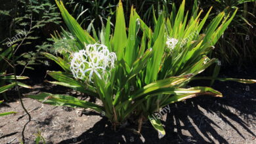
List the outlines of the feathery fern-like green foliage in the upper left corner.
{"type": "Polygon", "coordinates": [[[25,68],[33,69],[30,65],[39,64],[38,52],[49,51],[51,47],[46,39],[41,42],[43,39],[41,35],[49,35],[54,30],[49,29],[49,27],[60,24],[60,14],[56,12],[56,5],[52,5],[49,0],[8,1],[5,5],[7,8],[3,9],[7,10],[0,11],[0,20],[6,23],[3,26],[5,29],[0,29],[1,32],[5,33],[1,35],[1,39],[4,39],[1,42],[3,48],[22,44],[18,47],[26,47],[26,49],[15,50],[14,53],[18,59],[16,62],[25,68]]]}

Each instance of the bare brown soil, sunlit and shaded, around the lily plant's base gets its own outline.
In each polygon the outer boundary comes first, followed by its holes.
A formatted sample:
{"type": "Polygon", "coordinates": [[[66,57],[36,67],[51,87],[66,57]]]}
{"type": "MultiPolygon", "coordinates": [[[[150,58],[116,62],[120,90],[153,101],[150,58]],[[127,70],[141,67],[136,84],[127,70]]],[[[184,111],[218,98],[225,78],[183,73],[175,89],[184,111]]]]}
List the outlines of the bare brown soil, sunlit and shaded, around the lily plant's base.
{"type": "MultiPolygon", "coordinates": [[[[255,72],[255,67],[243,71],[226,68],[220,77],[256,79],[255,72]]],[[[33,85],[33,90],[21,88],[22,94],[51,92],[100,103],[62,86],[33,79],[27,83],[33,85]]],[[[205,82],[191,85],[205,85],[205,82]]],[[[133,132],[133,128],[137,129],[133,125],[114,132],[108,120],[93,111],[54,107],[23,98],[32,115],[32,121],[26,126],[26,143],[33,143],[38,131],[47,143],[256,143],[256,84],[215,82],[213,88],[224,97],[201,96],[170,105],[171,113],[163,117],[166,135],[161,139],[150,122],[143,124],[141,135],[133,132]],[[83,113],[81,117],[80,113],[83,113]]],[[[10,101],[0,105],[0,113],[18,113],[0,117],[0,143],[20,143],[28,116],[18,119],[24,110],[15,90],[8,91],[7,96],[10,101]]]]}

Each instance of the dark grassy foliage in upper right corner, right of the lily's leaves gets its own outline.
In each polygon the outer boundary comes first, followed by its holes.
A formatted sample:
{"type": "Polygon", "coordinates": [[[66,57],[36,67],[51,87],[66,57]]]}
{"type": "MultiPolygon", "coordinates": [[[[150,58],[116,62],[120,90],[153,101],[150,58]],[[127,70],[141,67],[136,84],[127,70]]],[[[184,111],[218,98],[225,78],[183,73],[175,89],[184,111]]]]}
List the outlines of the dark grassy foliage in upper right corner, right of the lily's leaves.
{"type": "Polygon", "coordinates": [[[219,13],[225,9],[225,15],[238,7],[234,20],[230,23],[227,31],[223,33],[222,39],[217,43],[215,56],[223,62],[237,65],[238,63],[253,63],[256,50],[254,47],[255,27],[255,0],[224,0],[224,1],[201,1],[203,8],[213,6],[213,11],[219,13]]]}

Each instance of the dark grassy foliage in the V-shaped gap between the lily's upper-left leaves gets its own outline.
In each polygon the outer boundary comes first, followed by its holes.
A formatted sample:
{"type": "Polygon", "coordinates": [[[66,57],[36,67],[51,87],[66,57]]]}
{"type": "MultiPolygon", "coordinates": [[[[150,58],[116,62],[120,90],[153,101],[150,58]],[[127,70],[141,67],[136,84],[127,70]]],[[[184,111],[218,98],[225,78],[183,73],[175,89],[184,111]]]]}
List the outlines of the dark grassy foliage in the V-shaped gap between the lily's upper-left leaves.
{"type": "Polygon", "coordinates": [[[66,8],[70,10],[75,20],[81,27],[91,32],[93,29],[99,31],[108,17],[112,17],[115,12],[116,0],[89,1],[89,0],[64,0],[66,8]]]}

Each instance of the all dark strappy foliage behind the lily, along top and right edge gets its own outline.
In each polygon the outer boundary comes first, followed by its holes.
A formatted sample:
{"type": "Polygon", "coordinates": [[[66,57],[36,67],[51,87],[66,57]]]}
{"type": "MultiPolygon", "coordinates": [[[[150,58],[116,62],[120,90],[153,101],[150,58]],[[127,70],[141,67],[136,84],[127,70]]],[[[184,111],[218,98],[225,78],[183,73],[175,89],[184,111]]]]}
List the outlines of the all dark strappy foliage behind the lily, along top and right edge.
{"type": "MultiPolygon", "coordinates": [[[[137,13],[141,16],[141,19],[148,24],[148,26],[154,26],[156,18],[154,15],[158,16],[161,12],[165,13],[165,16],[169,16],[170,11],[174,5],[180,4],[182,0],[179,1],[138,1],[131,0],[125,1],[124,14],[125,19],[129,18],[129,12],[133,6],[137,9],[137,13]]],[[[91,33],[92,29],[95,29],[97,33],[100,33],[100,29],[104,26],[104,22],[108,16],[110,21],[114,22],[115,18],[113,16],[116,7],[117,0],[105,0],[105,1],[75,1],[66,0],[64,1],[67,9],[71,12],[72,16],[75,17],[77,22],[81,24],[84,29],[87,29],[91,33]]],[[[237,64],[242,62],[253,62],[255,60],[255,48],[253,48],[253,39],[255,27],[255,5],[254,0],[224,0],[224,1],[195,1],[196,7],[200,9],[210,9],[213,7],[212,14],[209,15],[209,19],[215,18],[221,10],[225,9],[225,15],[230,12],[234,12],[236,7],[238,7],[238,12],[234,16],[234,20],[231,22],[230,26],[223,34],[222,39],[217,43],[215,53],[213,57],[221,59],[221,62],[228,64],[237,64]],[[253,4],[254,3],[254,4],[253,4]],[[242,41],[242,43],[240,43],[242,41]],[[238,62],[236,62],[238,61],[238,62]]],[[[192,1],[187,1],[186,9],[192,10],[192,1]]],[[[195,7],[195,6],[194,6],[195,7]]],[[[191,12],[190,14],[193,14],[191,12]]],[[[190,16],[190,15],[189,15],[190,16]]],[[[205,27],[203,27],[205,28],[205,27]]]]}

